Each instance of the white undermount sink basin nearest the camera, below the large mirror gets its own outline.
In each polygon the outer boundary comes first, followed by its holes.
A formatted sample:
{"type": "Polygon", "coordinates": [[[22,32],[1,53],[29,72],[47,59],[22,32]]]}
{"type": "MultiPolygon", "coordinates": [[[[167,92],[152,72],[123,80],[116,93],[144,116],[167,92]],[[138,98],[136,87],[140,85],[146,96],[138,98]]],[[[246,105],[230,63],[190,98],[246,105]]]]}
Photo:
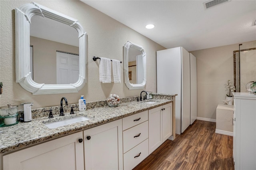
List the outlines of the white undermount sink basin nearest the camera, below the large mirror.
{"type": "Polygon", "coordinates": [[[78,122],[87,121],[87,120],[89,120],[88,117],[80,116],[80,117],[74,117],[74,118],[71,118],[71,119],[65,119],[65,120],[62,120],[62,121],[46,123],[44,125],[47,126],[48,128],[57,128],[57,127],[62,127],[62,126],[65,126],[65,125],[71,125],[73,123],[78,123],[78,122]]]}

